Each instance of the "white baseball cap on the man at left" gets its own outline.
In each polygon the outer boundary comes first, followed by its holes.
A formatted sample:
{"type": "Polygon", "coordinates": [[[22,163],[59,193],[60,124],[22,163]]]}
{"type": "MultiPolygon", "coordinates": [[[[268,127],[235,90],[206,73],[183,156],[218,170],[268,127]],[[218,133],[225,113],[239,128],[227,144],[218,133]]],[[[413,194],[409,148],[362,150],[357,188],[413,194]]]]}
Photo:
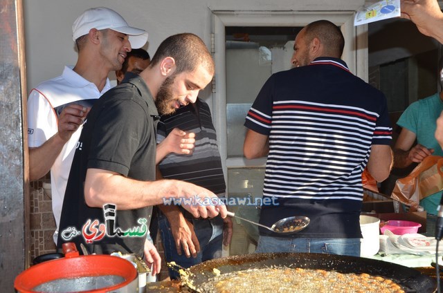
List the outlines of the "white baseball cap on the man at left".
{"type": "Polygon", "coordinates": [[[129,43],[131,43],[133,49],[141,48],[147,41],[147,32],[145,30],[129,26],[121,15],[105,7],[90,8],[75,19],[72,25],[73,40],[75,41],[79,37],[87,35],[92,28],[97,30],[109,28],[128,35],[129,43]]]}

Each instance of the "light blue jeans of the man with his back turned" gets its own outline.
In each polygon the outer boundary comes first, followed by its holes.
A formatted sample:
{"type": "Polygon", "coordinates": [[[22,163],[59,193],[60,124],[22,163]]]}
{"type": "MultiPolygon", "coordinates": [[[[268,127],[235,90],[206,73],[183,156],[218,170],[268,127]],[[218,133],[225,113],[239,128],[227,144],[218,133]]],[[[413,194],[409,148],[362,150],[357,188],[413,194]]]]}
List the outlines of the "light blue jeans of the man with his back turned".
{"type": "Polygon", "coordinates": [[[309,252],[360,256],[360,238],[308,239],[260,236],[255,252],[309,252]]]}

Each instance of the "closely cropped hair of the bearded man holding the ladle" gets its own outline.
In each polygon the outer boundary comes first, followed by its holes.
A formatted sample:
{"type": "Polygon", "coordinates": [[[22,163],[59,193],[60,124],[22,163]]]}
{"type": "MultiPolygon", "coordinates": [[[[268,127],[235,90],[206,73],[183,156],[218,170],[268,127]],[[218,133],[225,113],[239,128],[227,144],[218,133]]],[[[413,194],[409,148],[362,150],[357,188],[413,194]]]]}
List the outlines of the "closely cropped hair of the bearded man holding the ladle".
{"type": "Polygon", "coordinates": [[[172,35],[162,41],[150,66],[156,66],[166,57],[174,58],[177,66],[175,74],[194,71],[199,65],[204,66],[210,74],[215,72],[213,57],[204,41],[192,33],[172,35]]]}

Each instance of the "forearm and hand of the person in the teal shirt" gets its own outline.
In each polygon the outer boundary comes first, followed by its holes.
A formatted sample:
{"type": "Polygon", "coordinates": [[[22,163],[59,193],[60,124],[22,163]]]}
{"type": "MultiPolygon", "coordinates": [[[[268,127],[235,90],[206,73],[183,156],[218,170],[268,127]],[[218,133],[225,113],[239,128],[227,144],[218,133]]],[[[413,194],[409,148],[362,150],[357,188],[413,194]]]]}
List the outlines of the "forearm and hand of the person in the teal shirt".
{"type": "Polygon", "coordinates": [[[428,155],[432,155],[433,149],[428,149],[422,144],[417,144],[411,148],[415,143],[417,135],[412,131],[404,128],[401,129],[399,138],[394,146],[394,167],[405,168],[413,162],[422,162],[428,155]]]}

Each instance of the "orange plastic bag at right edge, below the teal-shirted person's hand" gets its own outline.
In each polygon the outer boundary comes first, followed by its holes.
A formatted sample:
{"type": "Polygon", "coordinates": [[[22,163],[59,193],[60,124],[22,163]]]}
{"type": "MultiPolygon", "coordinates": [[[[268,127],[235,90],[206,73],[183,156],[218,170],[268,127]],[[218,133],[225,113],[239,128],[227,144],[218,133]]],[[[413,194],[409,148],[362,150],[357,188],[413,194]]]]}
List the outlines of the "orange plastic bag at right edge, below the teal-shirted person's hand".
{"type": "Polygon", "coordinates": [[[398,179],[391,198],[417,209],[419,201],[443,190],[443,157],[430,155],[405,178],[398,179]]]}

